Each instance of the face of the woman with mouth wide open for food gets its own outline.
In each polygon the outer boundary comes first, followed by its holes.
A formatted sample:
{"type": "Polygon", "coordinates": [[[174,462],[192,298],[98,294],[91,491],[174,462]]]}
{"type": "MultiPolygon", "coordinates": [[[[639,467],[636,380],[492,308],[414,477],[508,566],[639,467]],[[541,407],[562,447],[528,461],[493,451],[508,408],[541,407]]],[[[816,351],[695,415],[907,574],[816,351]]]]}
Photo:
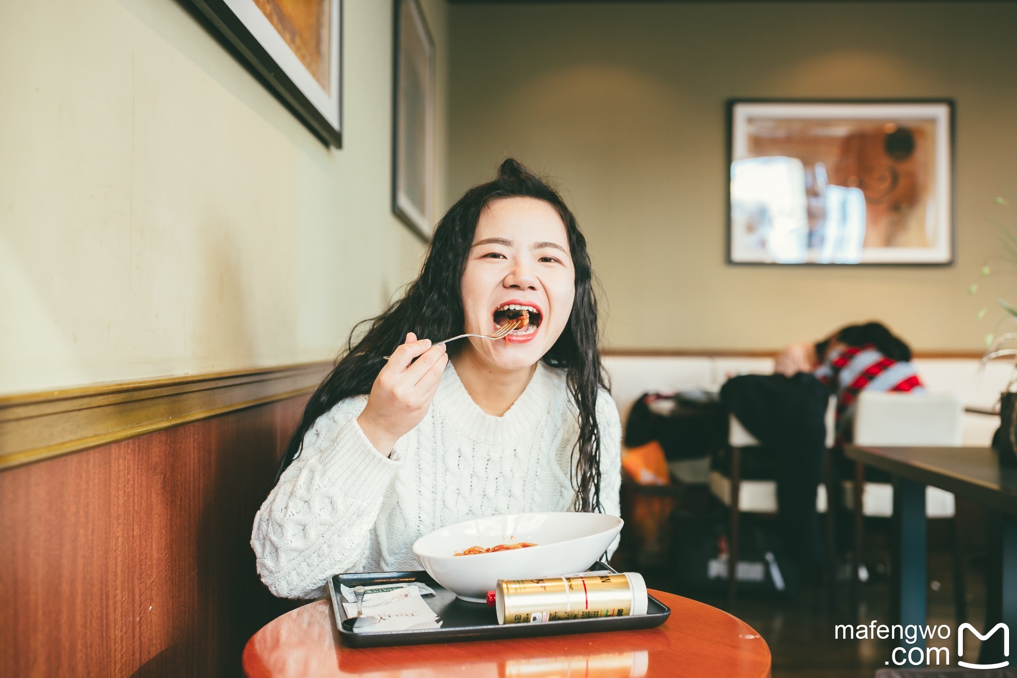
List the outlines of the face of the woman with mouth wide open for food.
{"type": "Polygon", "coordinates": [[[503,340],[471,337],[472,350],[501,369],[533,366],[561,334],[575,297],[569,237],[554,207],[527,197],[492,201],[463,273],[466,331],[490,334],[521,310],[530,322],[503,340]]]}

